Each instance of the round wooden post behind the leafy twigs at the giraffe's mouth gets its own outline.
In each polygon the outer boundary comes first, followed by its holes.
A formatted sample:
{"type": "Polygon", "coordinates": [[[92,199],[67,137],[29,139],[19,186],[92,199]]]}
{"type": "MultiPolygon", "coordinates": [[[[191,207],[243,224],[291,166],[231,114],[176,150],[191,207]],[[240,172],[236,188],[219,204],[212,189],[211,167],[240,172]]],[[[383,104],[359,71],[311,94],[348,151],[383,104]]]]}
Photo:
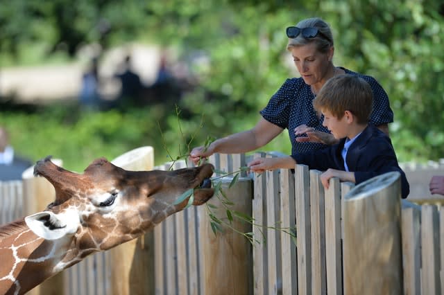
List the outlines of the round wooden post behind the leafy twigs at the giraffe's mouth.
{"type": "MultiPolygon", "coordinates": [[[[237,184],[228,188],[232,181],[229,177],[220,179],[221,188],[234,205],[230,211],[239,211],[251,216],[253,184],[250,178],[239,178],[237,184]]],[[[213,197],[208,202],[216,217],[228,222],[221,200],[213,197]]],[[[234,216],[233,216],[234,217],[234,216]]],[[[223,233],[214,235],[210,216],[205,206],[198,207],[200,269],[202,290],[200,294],[253,294],[253,260],[251,244],[235,231],[223,226],[223,233]]],[[[251,224],[241,222],[236,217],[232,227],[242,233],[252,231],[251,224]]]]}

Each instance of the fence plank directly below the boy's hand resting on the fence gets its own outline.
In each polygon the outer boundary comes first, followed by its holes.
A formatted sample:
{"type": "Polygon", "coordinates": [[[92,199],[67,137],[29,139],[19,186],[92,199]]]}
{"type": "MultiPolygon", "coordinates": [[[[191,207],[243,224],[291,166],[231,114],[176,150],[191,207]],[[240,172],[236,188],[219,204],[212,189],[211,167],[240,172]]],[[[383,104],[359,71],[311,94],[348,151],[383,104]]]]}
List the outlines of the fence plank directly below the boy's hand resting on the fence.
{"type": "Polygon", "coordinates": [[[328,190],[325,190],[325,267],[329,295],[342,294],[340,188],[339,178],[334,177],[330,179],[328,190]]]}

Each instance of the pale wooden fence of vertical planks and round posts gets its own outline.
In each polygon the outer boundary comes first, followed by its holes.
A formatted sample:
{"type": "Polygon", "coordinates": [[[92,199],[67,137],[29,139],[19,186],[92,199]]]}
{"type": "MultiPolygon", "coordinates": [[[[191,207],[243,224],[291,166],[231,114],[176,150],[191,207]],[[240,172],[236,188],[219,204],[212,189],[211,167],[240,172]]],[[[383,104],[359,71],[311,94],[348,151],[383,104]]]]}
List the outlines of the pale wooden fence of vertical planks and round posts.
{"type": "MultiPolygon", "coordinates": [[[[150,170],[153,161],[140,160],[146,159],[146,156],[140,156],[140,153],[146,152],[146,149],[128,152],[119,161],[119,166],[126,166],[126,161],[128,168],[132,167],[131,163],[144,163],[136,169],[150,170]]],[[[275,156],[257,153],[255,157],[275,156]]],[[[244,154],[216,154],[210,161],[217,170],[235,172],[245,166],[248,159],[244,154]]],[[[186,163],[166,163],[156,169],[168,170],[171,166],[177,169],[185,167],[186,163]]],[[[444,249],[444,216],[439,204],[419,206],[403,200],[386,207],[391,211],[383,212],[382,208],[387,205],[384,200],[388,198],[381,197],[379,199],[383,201],[363,207],[361,199],[366,198],[350,197],[357,187],[332,179],[331,188],[324,190],[320,175],[319,171],[298,165],[294,173],[276,170],[258,177],[240,172],[241,177],[232,187],[232,178],[218,180],[225,195],[234,204],[230,210],[254,217],[253,226],[236,218],[232,226],[242,233],[253,232],[260,243],[252,245],[243,235],[230,229],[214,235],[209,208],[205,205],[191,206],[167,218],[153,233],[128,244],[130,247],[124,251],[117,249],[113,253],[112,249],[89,256],[63,271],[60,277],[51,278],[33,289],[30,294],[355,294],[353,290],[357,287],[350,283],[350,278],[364,284],[361,287],[364,286],[368,294],[375,294],[375,286],[369,285],[368,277],[357,278],[363,273],[362,269],[358,270],[364,263],[354,265],[357,262],[349,255],[357,252],[359,242],[361,247],[366,247],[366,253],[370,254],[370,250],[379,253],[375,259],[385,261],[384,267],[396,267],[393,261],[387,262],[398,257],[396,249],[402,251],[402,256],[399,256],[402,257],[400,289],[404,294],[441,294],[444,281],[444,251],[441,251],[444,249]],[[366,208],[366,211],[356,213],[357,207],[366,208]],[[355,222],[350,222],[350,208],[355,211],[355,222]],[[396,215],[397,210],[399,215],[396,215]],[[366,212],[388,219],[370,218],[366,212]],[[381,220],[382,224],[369,226],[381,220]],[[276,228],[297,229],[296,238],[276,228]],[[371,228],[378,231],[371,232],[371,228]],[[369,233],[350,246],[350,237],[357,235],[353,233],[354,229],[359,229],[359,233],[365,229],[369,233]],[[386,230],[388,234],[384,232],[386,230]],[[397,231],[400,239],[396,238],[397,231]],[[381,238],[383,233],[384,238],[381,238]],[[380,240],[389,243],[380,243],[380,240]],[[141,261],[144,271],[139,274],[141,261]],[[137,262],[139,265],[136,267],[137,262]],[[350,271],[350,265],[354,265],[354,271],[350,271]],[[49,285],[57,292],[45,289],[44,285],[51,280],[56,283],[49,285]]],[[[24,205],[26,195],[33,195],[29,190],[34,187],[29,181],[0,183],[1,223],[27,214],[29,206],[24,205]]],[[[396,184],[398,181],[395,181],[395,188],[396,184]]],[[[392,190],[388,192],[392,192],[388,195],[393,195],[392,190]]],[[[399,197],[394,199],[399,200],[399,197]]],[[[229,222],[221,199],[213,197],[210,204],[219,219],[229,222]]],[[[125,244],[121,246],[125,247],[125,244]]],[[[368,270],[364,271],[366,276],[370,276],[371,267],[377,267],[376,261],[379,260],[373,261],[374,264],[364,269],[368,270]]],[[[379,278],[373,282],[377,287],[378,283],[386,284],[382,275],[375,278],[379,278]]],[[[388,281],[393,283],[393,280],[388,281]]],[[[395,287],[388,290],[393,294],[399,293],[395,287]]]]}

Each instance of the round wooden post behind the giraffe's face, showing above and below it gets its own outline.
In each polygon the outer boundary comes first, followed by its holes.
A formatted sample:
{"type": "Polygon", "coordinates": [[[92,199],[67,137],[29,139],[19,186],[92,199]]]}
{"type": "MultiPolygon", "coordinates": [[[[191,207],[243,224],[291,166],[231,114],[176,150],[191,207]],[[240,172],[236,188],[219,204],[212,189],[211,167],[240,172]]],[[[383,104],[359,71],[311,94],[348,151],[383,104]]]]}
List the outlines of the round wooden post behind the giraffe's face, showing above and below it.
{"type": "MultiPolygon", "coordinates": [[[[153,147],[139,147],[112,161],[126,170],[152,170],[153,147]]],[[[119,245],[109,251],[111,290],[107,294],[154,294],[153,232],[119,245]]]]}

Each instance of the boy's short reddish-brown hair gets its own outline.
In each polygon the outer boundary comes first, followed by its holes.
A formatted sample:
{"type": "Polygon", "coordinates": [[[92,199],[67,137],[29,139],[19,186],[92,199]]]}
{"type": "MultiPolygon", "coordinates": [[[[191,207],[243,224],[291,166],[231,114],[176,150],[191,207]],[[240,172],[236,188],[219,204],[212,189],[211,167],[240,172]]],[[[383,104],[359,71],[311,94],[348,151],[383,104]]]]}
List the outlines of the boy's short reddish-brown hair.
{"type": "Polygon", "coordinates": [[[370,84],[357,75],[336,75],[321,88],[313,107],[318,113],[328,110],[338,119],[350,111],[358,124],[366,124],[373,109],[373,91],[370,84]]]}

